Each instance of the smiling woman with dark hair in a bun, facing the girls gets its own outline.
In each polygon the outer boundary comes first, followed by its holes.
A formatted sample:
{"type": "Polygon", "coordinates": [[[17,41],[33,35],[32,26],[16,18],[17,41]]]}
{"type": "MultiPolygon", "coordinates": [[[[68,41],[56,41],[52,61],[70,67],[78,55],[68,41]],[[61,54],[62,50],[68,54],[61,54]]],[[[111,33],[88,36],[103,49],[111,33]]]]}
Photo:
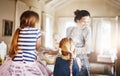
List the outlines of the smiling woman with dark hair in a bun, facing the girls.
{"type": "Polygon", "coordinates": [[[74,14],[76,26],[67,29],[67,36],[73,39],[76,47],[76,57],[81,60],[81,76],[90,76],[87,58],[87,54],[91,52],[91,29],[88,26],[90,13],[87,10],[76,10],[74,14]]]}

